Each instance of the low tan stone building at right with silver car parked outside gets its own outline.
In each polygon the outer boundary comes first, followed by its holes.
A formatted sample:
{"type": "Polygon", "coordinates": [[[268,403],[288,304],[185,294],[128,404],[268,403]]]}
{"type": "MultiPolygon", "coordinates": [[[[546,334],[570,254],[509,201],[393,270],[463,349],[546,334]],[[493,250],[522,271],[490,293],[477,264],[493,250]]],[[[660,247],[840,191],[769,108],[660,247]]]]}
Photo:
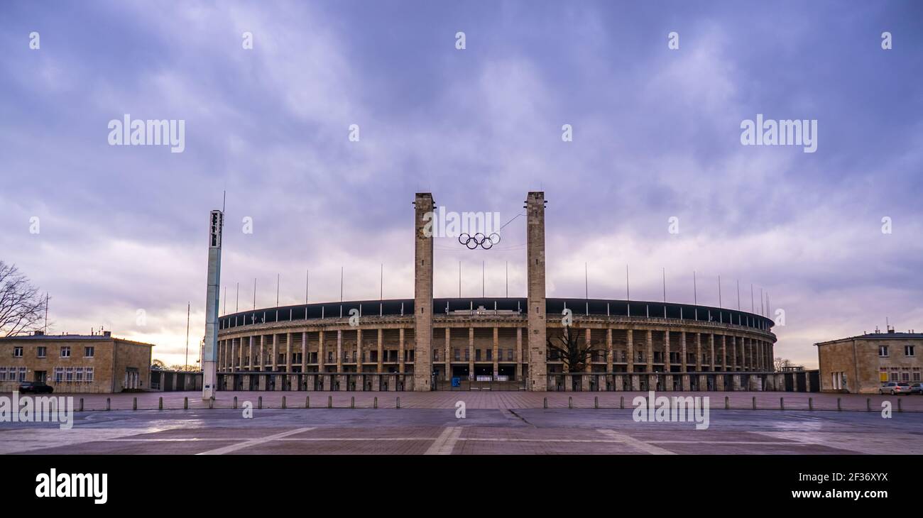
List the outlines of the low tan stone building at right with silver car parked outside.
{"type": "Polygon", "coordinates": [[[881,383],[920,381],[923,333],[895,333],[889,329],[887,333],[867,333],[814,345],[821,369],[821,392],[878,394],[881,383]]]}

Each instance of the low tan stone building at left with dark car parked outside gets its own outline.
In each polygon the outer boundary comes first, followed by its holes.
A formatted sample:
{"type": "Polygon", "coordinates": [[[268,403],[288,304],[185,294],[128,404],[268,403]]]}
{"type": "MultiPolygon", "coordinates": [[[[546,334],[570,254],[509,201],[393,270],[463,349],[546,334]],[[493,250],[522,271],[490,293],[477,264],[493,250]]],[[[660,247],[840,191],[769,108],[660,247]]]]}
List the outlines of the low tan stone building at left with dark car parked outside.
{"type": "Polygon", "coordinates": [[[117,393],[150,389],[151,344],[101,335],[0,338],[0,392],[43,382],[55,393],[117,393]]]}

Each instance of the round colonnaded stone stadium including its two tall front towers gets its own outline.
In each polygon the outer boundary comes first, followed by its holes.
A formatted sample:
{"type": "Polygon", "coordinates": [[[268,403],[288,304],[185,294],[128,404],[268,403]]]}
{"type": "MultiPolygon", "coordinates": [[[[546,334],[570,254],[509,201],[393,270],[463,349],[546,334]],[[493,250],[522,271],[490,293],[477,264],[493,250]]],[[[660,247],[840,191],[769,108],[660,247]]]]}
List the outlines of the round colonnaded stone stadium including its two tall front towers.
{"type": "Polygon", "coordinates": [[[217,389],[798,390],[791,386],[797,378],[774,372],[773,321],[765,316],[670,302],[545,298],[545,195],[529,193],[525,203],[527,297],[434,299],[433,236],[425,229],[435,204],[431,194],[416,194],[414,299],[217,317],[217,389]],[[548,347],[568,341],[587,350],[579,370],[548,347]]]}

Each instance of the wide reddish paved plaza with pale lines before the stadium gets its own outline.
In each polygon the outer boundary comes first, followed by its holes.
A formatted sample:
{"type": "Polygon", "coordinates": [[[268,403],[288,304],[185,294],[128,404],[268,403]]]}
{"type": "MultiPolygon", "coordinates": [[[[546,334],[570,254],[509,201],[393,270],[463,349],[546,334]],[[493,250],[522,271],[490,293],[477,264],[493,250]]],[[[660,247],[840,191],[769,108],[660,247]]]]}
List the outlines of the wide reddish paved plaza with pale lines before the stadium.
{"type": "Polygon", "coordinates": [[[707,393],[709,427],[696,430],[693,422],[635,422],[631,399],[638,393],[219,395],[209,408],[198,393],[77,394],[94,410],[77,412],[71,430],[0,423],[0,453],[923,453],[923,397],[915,396],[901,397],[903,411],[897,412],[895,397],[843,395],[844,410],[837,411],[836,394],[707,393]],[[252,418],[231,407],[235,395],[238,406],[252,404],[252,418]],[[107,397],[110,411],[104,410],[107,397]],[[131,409],[135,397],[138,410],[131,409]],[[164,410],[157,409],[160,397],[164,410]],[[182,409],[186,397],[188,410],[182,409]],[[593,407],[594,397],[600,408],[593,407]],[[785,410],[779,397],[785,397],[785,410]],[[807,409],[808,397],[814,410],[807,409]],[[893,401],[892,418],[881,417],[882,400],[893,401]],[[465,403],[464,418],[456,417],[458,401],[465,403]],[[873,411],[865,410],[867,404],[873,411]]]}

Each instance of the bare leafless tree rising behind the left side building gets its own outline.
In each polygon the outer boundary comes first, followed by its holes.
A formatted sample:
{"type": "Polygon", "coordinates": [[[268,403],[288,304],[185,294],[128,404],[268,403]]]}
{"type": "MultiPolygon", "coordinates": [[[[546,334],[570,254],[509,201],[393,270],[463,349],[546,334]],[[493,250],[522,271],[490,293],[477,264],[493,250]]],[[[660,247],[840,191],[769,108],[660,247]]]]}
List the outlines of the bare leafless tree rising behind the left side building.
{"type": "Polygon", "coordinates": [[[46,298],[16,265],[0,261],[0,336],[42,329],[46,298]]]}

